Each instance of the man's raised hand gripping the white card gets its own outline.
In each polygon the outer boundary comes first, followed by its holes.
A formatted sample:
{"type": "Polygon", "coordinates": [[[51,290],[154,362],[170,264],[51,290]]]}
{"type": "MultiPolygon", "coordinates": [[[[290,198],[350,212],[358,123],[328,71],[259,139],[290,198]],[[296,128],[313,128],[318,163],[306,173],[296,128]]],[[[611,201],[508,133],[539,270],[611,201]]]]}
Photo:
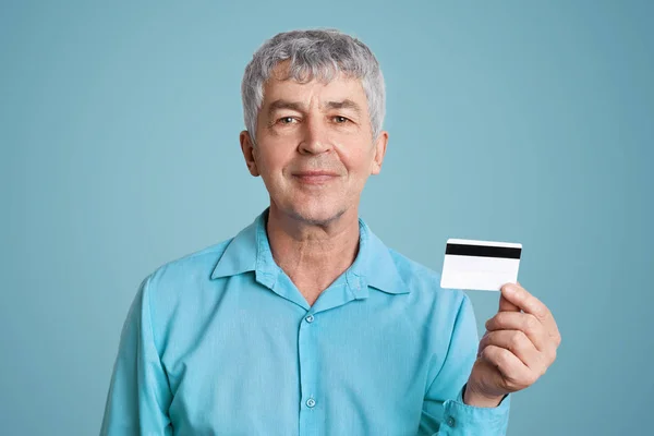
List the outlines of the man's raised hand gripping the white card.
{"type": "Polygon", "coordinates": [[[499,311],[486,322],[463,401],[497,407],[505,395],[533,385],[545,374],[560,343],[561,336],[547,306],[520,283],[505,284],[499,311]]]}

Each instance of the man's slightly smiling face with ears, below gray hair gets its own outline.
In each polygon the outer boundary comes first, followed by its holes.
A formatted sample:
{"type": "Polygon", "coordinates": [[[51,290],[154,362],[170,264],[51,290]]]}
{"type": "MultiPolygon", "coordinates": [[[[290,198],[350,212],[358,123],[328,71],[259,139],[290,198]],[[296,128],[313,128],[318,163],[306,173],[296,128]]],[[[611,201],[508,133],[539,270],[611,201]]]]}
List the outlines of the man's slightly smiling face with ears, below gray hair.
{"type": "Polygon", "coordinates": [[[270,207],[294,219],[320,225],[358,213],[368,175],[382,169],[388,134],[373,138],[360,80],[280,81],[284,68],[265,84],[256,146],[241,132],[250,172],[264,179],[270,207]]]}

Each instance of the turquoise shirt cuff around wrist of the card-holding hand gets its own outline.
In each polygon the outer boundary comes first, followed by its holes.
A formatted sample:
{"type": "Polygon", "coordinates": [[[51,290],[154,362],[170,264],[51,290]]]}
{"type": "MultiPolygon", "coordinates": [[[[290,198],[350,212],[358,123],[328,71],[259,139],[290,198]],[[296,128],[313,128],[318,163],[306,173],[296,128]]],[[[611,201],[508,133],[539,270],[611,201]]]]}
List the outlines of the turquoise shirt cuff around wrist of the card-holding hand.
{"type": "Polygon", "coordinates": [[[506,435],[511,396],[502,398],[496,408],[477,408],[463,402],[464,389],[465,385],[456,400],[446,400],[444,403],[443,435],[506,435]]]}

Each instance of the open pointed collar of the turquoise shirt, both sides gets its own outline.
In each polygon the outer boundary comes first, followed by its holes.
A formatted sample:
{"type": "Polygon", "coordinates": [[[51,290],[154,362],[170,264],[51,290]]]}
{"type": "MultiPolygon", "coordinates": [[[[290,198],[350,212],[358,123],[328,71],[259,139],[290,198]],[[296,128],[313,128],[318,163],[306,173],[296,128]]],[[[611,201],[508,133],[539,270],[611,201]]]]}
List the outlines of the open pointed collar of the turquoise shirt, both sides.
{"type": "MultiPolygon", "coordinates": [[[[255,271],[256,280],[272,287],[281,268],[277,266],[266,232],[268,208],[252,225],[241,230],[228,244],[211,279],[255,271]]],[[[348,284],[356,298],[367,296],[367,287],[386,293],[409,293],[388,247],[359,219],[359,253],[346,271],[348,284]]]]}

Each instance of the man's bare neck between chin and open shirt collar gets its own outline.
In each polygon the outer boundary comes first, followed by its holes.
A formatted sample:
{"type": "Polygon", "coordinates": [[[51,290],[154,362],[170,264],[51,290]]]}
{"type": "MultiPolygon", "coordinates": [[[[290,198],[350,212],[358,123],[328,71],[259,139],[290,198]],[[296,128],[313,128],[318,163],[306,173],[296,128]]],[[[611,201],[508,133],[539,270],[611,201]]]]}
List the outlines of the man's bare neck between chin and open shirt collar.
{"type": "Polygon", "coordinates": [[[322,225],[283,214],[270,205],[266,226],[272,257],[310,299],[329,287],[354,262],[359,251],[359,209],[322,225]]]}

